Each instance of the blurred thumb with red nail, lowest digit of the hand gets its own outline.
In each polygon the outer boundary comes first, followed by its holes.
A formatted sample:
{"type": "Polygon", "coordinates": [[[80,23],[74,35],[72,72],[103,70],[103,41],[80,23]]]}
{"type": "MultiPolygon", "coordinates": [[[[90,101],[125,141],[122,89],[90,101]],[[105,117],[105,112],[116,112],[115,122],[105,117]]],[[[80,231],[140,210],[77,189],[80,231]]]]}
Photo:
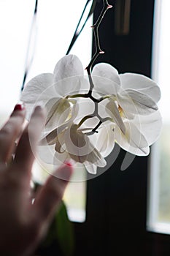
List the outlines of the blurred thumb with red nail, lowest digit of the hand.
{"type": "Polygon", "coordinates": [[[63,193],[72,176],[72,165],[65,164],[55,171],[54,176],[48,178],[46,184],[37,192],[34,201],[34,211],[37,219],[46,224],[53,218],[61,203],[63,193]],[[55,175],[63,177],[56,178],[55,175]]]}

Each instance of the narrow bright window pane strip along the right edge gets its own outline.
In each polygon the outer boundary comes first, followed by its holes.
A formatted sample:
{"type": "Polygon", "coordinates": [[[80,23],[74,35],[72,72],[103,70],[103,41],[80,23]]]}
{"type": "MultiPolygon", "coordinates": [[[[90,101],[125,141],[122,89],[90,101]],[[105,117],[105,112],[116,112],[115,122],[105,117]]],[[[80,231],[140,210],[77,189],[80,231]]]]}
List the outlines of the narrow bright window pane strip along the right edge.
{"type": "Polygon", "coordinates": [[[155,1],[154,47],[152,77],[161,87],[159,108],[163,116],[161,137],[152,148],[150,157],[150,205],[148,230],[170,234],[170,1],[155,1]]]}

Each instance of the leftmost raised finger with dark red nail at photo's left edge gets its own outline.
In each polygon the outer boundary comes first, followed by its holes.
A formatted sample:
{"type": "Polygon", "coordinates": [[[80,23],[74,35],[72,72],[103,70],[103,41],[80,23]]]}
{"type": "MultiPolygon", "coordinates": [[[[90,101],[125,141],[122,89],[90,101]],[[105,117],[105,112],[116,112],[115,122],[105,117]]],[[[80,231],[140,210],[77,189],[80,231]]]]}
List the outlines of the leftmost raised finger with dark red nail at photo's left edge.
{"type": "Polygon", "coordinates": [[[0,130],[0,162],[5,163],[12,156],[15,148],[15,140],[22,131],[22,124],[26,116],[26,109],[23,105],[15,105],[9,120],[0,130]]]}

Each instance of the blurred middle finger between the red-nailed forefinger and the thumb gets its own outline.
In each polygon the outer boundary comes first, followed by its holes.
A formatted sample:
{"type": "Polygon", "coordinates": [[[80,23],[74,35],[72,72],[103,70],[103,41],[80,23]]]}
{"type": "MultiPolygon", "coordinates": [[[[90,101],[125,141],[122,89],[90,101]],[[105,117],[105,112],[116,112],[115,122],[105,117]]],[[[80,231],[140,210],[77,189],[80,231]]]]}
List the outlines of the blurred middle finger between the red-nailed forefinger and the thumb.
{"type": "Polygon", "coordinates": [[[45,112],[41,107],[37,106],[28,126],[23,130],[16,149],[15,159],[11,166],[11,169],[14,167],[15,176],[18,176],[19,180],[24,178],[28,182],[27,178],[31,176],[34,154],[44,123],[45,112]]]}

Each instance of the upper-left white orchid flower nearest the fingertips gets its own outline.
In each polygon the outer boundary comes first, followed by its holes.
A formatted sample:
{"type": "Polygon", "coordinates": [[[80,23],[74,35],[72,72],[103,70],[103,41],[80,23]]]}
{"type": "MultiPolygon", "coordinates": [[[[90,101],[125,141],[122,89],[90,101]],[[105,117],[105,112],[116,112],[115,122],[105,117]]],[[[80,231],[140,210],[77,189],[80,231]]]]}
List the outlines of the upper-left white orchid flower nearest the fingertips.
{"type": "Polygon", "coordinates": [[[28,119],[34,105],[45,106],[47,110],[45,128],[50,132],[63,124],[72,114],[72,104],[75,101],[66,96],[77,94],[85,86],[87,87],[87,80],[84,79],[80,59],[69,55],[58,61],[53,74],[45,73],[31,79],[26,84],[20,99],[26,104],[28,119]]]}

